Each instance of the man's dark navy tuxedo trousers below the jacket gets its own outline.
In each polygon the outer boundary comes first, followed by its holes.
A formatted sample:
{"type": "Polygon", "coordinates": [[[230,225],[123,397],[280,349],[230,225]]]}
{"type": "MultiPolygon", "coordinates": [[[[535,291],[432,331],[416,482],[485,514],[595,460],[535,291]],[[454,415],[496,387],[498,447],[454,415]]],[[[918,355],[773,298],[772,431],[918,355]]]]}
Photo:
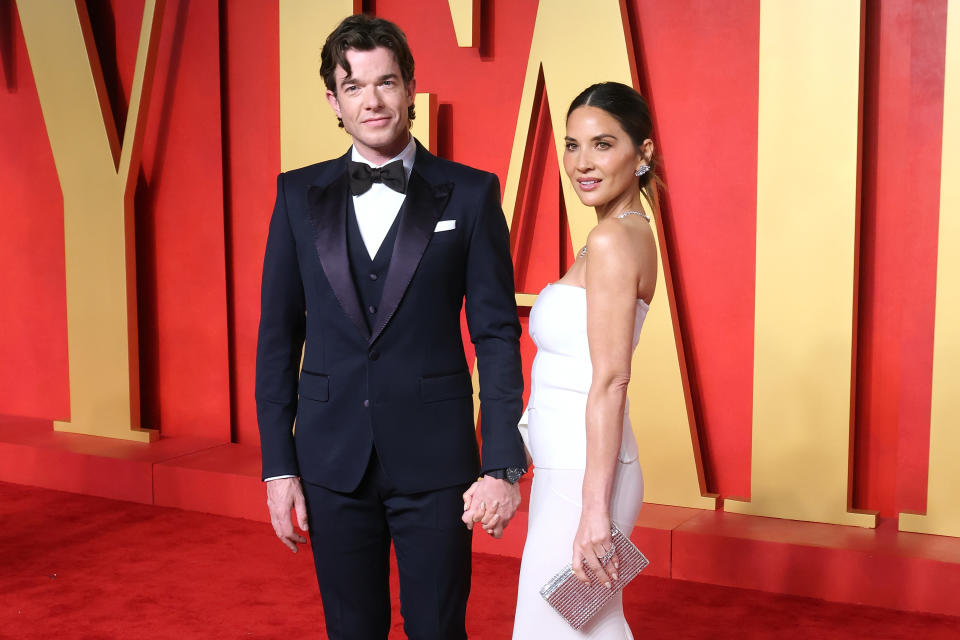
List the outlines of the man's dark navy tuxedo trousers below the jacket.
{"type": "Polygon", "coordinates": [[[470,594],[472,535],[460,521],[467,487],[400,495],[376,452],[355,491],[338,493],[303,483],[313,560],[331,640],[387,637],[391,540],[407,637],[467,637],[464,617],[470,594]]]}

